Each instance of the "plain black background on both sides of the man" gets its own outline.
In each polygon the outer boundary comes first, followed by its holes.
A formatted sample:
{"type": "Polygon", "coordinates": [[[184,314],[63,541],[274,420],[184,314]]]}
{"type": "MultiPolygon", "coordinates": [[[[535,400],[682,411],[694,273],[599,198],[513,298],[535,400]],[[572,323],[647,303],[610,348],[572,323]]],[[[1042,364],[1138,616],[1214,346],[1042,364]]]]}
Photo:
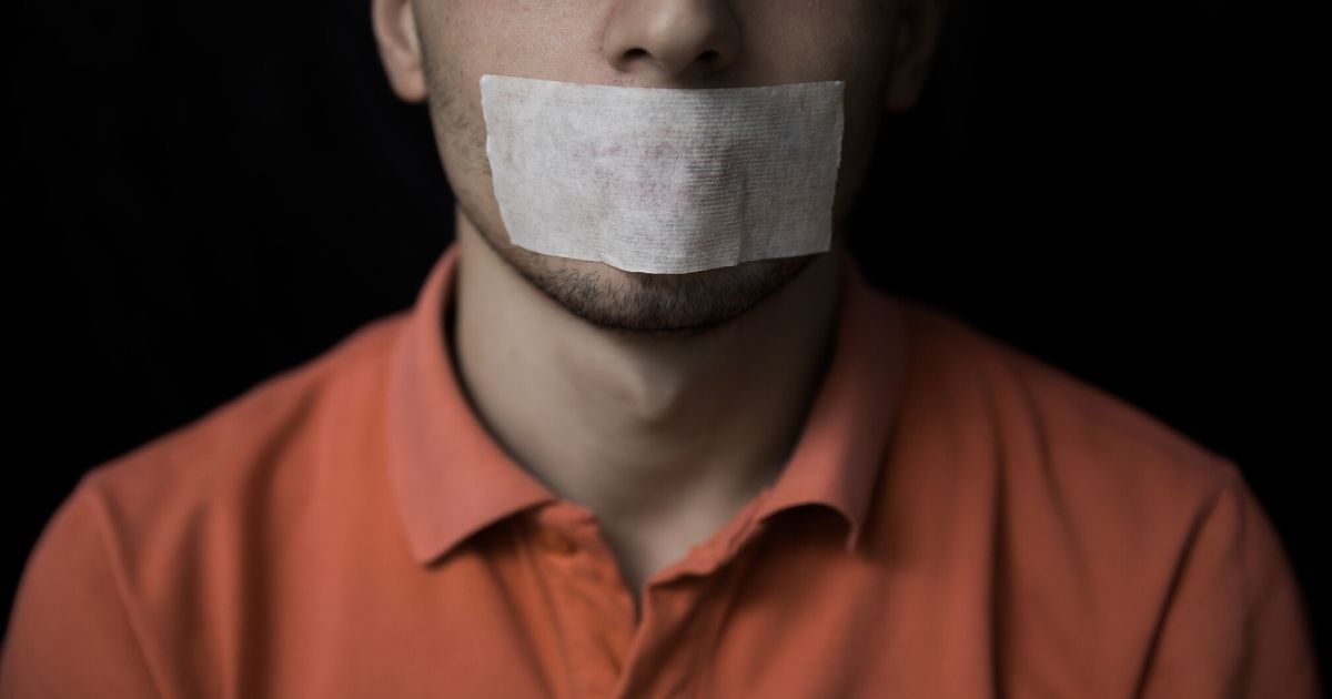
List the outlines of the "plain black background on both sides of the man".
{"type": "MultiPolygon", "coordinates": [[[[452,238],[369,0],[12,7],[5,599],[87,469],[405,309],[452,238]]],[[[854,237],[874,284],[1235,459],[1324,676],[1327,20],[1297,0],[954,0],[854,237]]]]}

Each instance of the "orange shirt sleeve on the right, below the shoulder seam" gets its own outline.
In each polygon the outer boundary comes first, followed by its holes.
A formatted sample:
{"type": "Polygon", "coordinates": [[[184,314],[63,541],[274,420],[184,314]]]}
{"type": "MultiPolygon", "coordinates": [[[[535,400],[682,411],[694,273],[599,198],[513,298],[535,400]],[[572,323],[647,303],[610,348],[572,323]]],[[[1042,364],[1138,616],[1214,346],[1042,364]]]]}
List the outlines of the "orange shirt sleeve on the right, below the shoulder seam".
{"type": "Polygon", "coordinates": [[[1181,561],[1144,699],[1317,699],[1304,599],[1281,541],[1239,469],[1181,561]]]}

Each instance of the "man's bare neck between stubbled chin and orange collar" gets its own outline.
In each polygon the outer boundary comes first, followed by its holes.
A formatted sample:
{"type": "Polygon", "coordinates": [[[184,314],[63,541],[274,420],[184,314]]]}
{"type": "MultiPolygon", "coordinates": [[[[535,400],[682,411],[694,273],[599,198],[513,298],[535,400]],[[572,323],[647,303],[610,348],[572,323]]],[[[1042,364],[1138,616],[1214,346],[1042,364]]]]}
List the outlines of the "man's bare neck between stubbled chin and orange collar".
{"type": "Polygon", "coordinates": [[[494,437],[561,498],[606,527],[702,539],[775,481],[827,362],[835,249],[743,316],[662,340],[569,313],[466,217],[457,230],[460,377],[494,437]]]}

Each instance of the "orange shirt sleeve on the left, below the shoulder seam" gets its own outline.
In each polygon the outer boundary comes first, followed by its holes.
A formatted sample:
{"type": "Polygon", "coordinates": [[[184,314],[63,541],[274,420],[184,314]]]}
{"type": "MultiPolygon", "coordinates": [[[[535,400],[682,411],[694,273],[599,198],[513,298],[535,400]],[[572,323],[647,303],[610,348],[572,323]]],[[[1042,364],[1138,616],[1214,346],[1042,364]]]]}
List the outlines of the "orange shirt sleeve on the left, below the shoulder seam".
{"type": "Polygon", "coordinates": [[[159,696],[84,485],[28,557],[0,648],[0,699],[159,696]]]}

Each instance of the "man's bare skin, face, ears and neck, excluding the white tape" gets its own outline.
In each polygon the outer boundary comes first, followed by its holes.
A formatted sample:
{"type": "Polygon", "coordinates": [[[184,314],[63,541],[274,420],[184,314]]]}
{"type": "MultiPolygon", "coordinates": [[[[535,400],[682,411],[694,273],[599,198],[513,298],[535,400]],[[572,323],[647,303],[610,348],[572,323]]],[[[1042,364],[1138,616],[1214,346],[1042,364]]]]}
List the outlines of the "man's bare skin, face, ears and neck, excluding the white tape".
{"type": "MultiPolygon", "coordinates": [[[[826,369],[827,254],[642,274],[509,241],[482,75],[645,88],[846,81],[834,248],[944,0],[372,0],[394,92],[428,101],[457,201],[450,340],[514,459],[587,506],[635,594],[781,473],[826,369]]],[[[888,397],[884,397],[887,399],[888,397]]]]}

